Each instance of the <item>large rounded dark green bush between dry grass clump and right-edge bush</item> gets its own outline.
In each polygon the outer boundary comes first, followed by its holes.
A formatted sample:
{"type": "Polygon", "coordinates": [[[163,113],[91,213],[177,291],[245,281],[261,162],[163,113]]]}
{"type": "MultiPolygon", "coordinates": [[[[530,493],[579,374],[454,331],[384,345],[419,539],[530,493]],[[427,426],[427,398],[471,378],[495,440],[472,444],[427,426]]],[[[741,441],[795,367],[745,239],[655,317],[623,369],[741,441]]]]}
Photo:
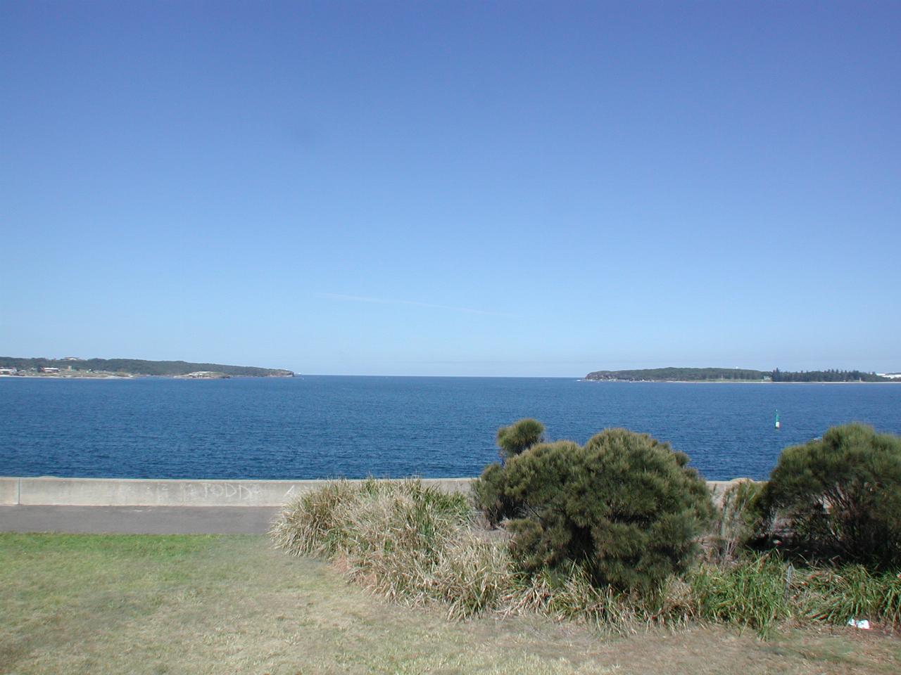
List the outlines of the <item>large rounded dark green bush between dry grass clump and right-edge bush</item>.
{"type": "Polygon", "coordinates": [[[684,572],[713,515],[687,455],[646,434],[606,429],[585,446],[533,446],[506,466],[523,504],[513,551],[528,571],[583,565],[597,585],[652,594],[684,572]]]}

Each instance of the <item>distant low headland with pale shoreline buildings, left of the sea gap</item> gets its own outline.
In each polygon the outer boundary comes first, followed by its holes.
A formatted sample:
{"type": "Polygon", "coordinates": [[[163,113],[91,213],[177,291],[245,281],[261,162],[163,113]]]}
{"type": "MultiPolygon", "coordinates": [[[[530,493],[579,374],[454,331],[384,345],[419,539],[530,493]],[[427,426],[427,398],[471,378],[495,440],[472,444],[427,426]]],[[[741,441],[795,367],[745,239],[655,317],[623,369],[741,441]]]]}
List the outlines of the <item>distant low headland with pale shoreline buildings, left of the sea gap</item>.
{"type": "Polygon", "coordinates": [[[0,356],[0,375],[21,377],[178,377],[217,380],[229,377],[294,377],[283,368],[252,365],[192,364],[136,358],[19,358],[0,356]]]}

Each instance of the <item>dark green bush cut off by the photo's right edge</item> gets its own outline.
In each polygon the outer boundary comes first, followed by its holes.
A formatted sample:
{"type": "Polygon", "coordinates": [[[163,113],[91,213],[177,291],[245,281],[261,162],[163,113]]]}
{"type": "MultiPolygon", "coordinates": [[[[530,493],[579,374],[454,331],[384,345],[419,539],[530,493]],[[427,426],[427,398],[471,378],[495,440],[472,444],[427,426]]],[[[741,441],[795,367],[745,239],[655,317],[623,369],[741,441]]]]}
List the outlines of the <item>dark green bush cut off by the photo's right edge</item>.
{"type": "Polygon", "coordinates": [[[764,493],[809,556],[890,566],[901,561],[901,438],[862,424],[788,447],[764,493]]]}

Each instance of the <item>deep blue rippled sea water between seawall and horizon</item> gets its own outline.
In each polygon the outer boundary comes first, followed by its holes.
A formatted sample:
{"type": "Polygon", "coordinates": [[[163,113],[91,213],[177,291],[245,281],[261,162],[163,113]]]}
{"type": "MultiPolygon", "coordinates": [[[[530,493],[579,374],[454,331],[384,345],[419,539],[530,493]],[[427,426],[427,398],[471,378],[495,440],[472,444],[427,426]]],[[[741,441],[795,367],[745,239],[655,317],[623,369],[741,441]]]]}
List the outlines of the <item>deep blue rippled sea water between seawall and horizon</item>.
{"type": "Polygon", "coordinates": [[[0,475],[474,476],[496,459],[497,428],[523,417],[579,443],[606,427],[647,432],[707,479],[760,479],[783,447],[831,425],[901,434],[901,384],[0,378],[0,475]]]}

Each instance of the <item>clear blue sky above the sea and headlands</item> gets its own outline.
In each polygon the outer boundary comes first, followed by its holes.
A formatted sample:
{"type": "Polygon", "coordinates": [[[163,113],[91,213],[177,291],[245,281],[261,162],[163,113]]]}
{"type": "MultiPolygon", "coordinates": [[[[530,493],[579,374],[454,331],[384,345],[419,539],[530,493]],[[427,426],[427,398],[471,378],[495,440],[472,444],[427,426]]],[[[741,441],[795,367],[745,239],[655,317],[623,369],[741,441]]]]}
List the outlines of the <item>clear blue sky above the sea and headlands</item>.
{"type": "Polygon", "coordinates": [[[0,355],[901,371],[901,2],[0,3],[0,355]]]}

